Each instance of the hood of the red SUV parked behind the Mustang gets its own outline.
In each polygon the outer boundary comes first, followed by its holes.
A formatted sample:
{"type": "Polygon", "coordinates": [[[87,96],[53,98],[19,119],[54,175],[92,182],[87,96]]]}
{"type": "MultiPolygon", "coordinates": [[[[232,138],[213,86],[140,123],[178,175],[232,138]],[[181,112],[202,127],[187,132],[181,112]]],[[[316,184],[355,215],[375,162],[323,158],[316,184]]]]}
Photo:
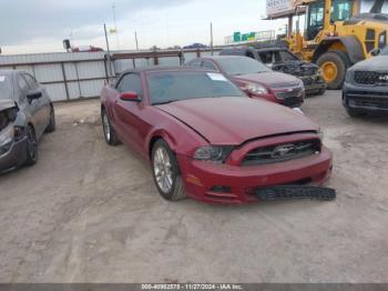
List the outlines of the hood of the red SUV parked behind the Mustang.
{"type": "Polygon", "coordinates": [[[232,79],[264,84],[267,88],[296,87],[300,80],[294,76],[280,72],[262,72],[234,76],[232,79]]]}

